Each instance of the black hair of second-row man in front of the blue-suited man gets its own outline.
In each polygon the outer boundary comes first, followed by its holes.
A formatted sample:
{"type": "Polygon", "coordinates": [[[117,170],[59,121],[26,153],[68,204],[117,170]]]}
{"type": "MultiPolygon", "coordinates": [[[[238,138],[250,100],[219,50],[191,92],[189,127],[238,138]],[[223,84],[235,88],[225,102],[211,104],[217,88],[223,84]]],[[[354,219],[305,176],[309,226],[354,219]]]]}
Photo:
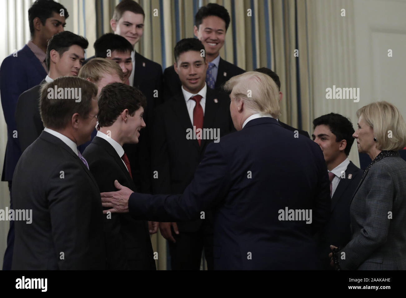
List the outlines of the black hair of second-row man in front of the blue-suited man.
{"type": "Polygon", "coordinates": [[[77,35],[70,31],[62,31],[54,36],[48,41],[47,47],[47,67],[50,69],[51,63],[51,51],[54,49],[58,52],[59,56],[62,57],[62,54],[69,50],[69,47],[72,45],[78,45],[82,49],[87,49],[89,42],[83,36],[77,35]]]}

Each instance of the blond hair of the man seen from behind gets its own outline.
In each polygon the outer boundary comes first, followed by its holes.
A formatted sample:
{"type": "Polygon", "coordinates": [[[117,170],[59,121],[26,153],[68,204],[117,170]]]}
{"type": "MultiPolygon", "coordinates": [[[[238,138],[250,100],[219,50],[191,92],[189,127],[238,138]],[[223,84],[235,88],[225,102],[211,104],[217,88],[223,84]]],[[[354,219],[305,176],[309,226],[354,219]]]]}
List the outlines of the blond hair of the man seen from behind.
{"type": "Polygon", "coordinates": [[[264,73],[249,71],[236,75],[225,83],[224,89],[232,91],[232,99],[243,100],[245,107],[255,114],[270,114],[275,119],[281,115],[278,86],[264,73]]]}

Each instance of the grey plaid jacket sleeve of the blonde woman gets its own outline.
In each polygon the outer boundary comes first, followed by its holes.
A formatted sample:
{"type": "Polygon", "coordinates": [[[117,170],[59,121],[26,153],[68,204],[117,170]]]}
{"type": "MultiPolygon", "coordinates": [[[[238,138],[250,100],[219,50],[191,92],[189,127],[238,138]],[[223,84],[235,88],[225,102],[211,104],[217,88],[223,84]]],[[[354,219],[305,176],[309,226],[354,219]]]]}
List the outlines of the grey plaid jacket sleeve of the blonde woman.
{"type": "MultiPolygon", "coordinates": [[[[363,204],[365,214],[359,234],[342,249],[346,259],[340,260],[341,269],[356,270],[369,256],[387,240],[392,210],[394,187],[389,172],[381,167],[371,167],[358,191],[369,190],[363,204]]],[[[355,198],[354,198],[355,200],[355,198]]],[[[362,216],[362,215],[360,215],[362,216]]]]}

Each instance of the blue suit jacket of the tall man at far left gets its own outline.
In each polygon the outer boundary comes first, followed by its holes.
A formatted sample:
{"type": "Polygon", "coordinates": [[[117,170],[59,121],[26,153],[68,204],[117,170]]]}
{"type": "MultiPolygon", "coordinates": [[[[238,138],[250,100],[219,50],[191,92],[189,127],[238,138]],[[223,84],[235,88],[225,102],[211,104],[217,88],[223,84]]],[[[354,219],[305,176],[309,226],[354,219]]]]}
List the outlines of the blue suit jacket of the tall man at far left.
{"type": "Polygon", "coordinates": [[[22,92],[38,85],[47,75],[41,62],[31,51],[28,45],[7,56],[0,67],[0,94],[4,119],[7,124],[7,146],[4,156],[2,181],[11,181],[14,168],[21,155],[19,147],[17,125],[15,123],[15,107],[18,96],[22,92]],[[17,131],[17,137],[13,132],[17,131]]]}

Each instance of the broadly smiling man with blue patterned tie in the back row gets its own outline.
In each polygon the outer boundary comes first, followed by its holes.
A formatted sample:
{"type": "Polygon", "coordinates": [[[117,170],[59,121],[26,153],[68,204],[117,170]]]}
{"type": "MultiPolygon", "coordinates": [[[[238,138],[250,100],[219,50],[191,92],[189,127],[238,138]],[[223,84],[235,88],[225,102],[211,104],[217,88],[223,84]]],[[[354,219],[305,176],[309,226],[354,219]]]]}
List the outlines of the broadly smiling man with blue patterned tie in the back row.
{"type": "MultiPolygon", "coordinates": [[[[194,17],[194,35],[203,43],[205,56],[209,62],[206,83],[211,89],[221,90],[222,84],[244,72],[243,69],[220,57],[220,49],[224,45],[229,24],[230,15],[227,9],[215,3],[202,6],[194,17]]],[[[164,71],[164,99],[177,94],[180,86],[181,82],[174,66],[169,66],[164,71]]]]}

